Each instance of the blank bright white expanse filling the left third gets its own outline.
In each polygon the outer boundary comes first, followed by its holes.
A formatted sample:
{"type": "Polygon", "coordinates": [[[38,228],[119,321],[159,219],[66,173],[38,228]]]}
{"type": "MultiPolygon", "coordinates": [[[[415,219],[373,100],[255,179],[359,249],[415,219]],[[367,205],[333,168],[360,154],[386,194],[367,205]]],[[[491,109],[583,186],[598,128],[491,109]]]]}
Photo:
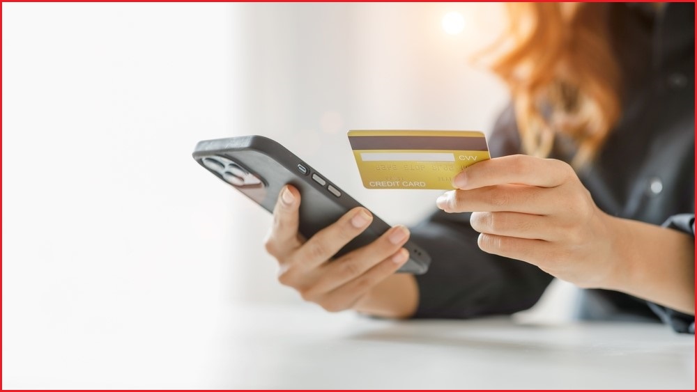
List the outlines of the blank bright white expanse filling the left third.
{"type": "Polygon", "coordinates": [[[228,284],[190,154],[231,129],[237,6],[2,7],[3,388],[185,386],[228,284]]]}

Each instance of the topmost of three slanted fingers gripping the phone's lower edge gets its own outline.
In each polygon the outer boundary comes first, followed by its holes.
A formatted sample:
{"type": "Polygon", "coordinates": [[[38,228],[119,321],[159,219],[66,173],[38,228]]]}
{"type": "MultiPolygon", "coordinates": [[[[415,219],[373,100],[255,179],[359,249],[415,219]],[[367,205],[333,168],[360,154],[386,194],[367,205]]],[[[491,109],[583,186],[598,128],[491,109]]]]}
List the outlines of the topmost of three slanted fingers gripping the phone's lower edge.
{"type": "Polygon", "coordinates": [[[373,220],[363,207],[346,212],[338,221],[323,228],[302,244],[293,255],[299,266],[314,269],[334,256],[344,245],[360,235],[373,220]]]}

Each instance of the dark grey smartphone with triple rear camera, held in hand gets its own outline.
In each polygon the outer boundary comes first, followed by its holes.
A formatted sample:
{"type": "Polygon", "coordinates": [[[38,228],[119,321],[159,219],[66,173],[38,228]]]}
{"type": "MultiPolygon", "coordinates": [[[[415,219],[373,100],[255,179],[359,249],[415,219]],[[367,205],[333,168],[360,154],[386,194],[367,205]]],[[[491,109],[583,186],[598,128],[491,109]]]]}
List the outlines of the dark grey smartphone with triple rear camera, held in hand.
{"type": "MultiPolygon", "coordinates": [[[[325,175],[264,136],[238,136],[204,140],[192,154],[201,166],[217,178],[242,192],[268,212],[273,212],[281,189],[286,184],[300,191],[299,231],[305,238],[335,223],[348,210],[362,207],[325,175]]],[[[346,244],[335,257],[367,245],[385,233],[390,225],[373,214],[370,226],[346,244]]],[[[431,257],[411,240],[404,244],[409,260],[398,272],[423,274],[431,257]]]]}

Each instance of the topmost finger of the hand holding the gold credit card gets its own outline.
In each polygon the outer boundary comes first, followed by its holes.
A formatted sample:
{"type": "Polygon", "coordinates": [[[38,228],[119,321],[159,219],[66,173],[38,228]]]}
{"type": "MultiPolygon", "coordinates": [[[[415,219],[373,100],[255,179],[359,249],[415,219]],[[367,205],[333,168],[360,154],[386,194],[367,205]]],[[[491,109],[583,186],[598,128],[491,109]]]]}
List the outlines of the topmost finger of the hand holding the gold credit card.
{"type": "Polygon", "coordinates": [[[551,188],[575,176],[574,170],[557,159],[508,155],[468,166],[453,178],[457,189],[475,189],[500,184],[524,184],[551,188]]]}

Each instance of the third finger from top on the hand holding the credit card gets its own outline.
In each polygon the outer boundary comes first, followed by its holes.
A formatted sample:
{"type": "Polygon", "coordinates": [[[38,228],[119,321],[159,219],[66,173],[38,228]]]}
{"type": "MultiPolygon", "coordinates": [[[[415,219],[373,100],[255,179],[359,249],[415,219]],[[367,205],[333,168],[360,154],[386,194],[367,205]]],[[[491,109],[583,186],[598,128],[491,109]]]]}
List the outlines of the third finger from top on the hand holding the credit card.
{"type": "Polygon", "coordinates": [[[550,218],[519,212],[473,212],[470,226],[480,233],[528,240],[554,240],[557,235],[550,218]]]}

